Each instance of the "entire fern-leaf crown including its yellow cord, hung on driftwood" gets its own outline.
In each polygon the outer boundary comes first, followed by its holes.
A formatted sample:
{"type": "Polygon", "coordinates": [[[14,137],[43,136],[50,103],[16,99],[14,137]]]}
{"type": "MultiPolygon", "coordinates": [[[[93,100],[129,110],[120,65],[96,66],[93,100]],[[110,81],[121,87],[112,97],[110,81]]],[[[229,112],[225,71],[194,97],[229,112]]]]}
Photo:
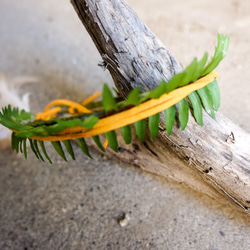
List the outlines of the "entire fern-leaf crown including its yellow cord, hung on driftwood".
{"type": "Polygon", "coordinates": [[[215,79],[218,74],[213,70],[225,57],[228,45],[229,37],[218,35],[218,45],[210,62],[207,63],[206,52],[201,60],[195,58],[183,72],[173,76],[168,83],[162,81],[155,89],[144,93],[140,93],[140,89],[136,88],[126,100],[115,97],[108,85],[104,84],[102,101],[93,101],[98,94],[82,104],[56,100],[45,108],[44,113],[36,116],[8,106],[0,112],[0,123],[13,131],[13,150],[23,153],[27,158],[28,138],[36,157],[44,161],[44,155],[50,163],[52,161],[43,141],[51,141],[56,152],[65,161],[67,158],[64,148],[71,158],[75,159],[72,139],[76,139],[83,153],[90,158],[92,157],[85,137],[92,137],[96,145],[105,152],[100,134],[105,134],[109,146],[117,152],[117,128],[121,128],[127,144],[132,141],[131,124],[134,124],[136,135],[141,141],[145,138],[147,126],[153,139],[159,131],[161,111],[165,114],[165,129],[168,135],[171,135],[176,119],[182,130],[186,128],[190,109],[196,122],[203,125],[203,108],[215,119],[214,110],[217,111],[220,106],[220,92],[215,79]]]}

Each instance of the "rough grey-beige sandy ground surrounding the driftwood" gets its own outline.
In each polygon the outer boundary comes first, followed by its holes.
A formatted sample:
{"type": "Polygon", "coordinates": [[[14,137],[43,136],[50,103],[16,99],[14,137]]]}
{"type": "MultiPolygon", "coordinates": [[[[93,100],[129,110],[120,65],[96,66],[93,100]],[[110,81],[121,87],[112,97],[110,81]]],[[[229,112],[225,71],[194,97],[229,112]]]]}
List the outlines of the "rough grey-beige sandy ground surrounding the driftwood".
{"type": "MultiPolygon", "coordinates": [[[[228,34],[220,111],[250,131],[250,2],[129,0],[187,65],[228,34]]],[[[0,73],[32,76],[32,111],[112,84],[69,1],[0,0],[0,73]]],[[[250,219],[180,184],[94,153],[54,164],[0,152],[0,249],[250,249],[250,219]],[[129,217],[124,227],[118,221],[129,217]]]]}

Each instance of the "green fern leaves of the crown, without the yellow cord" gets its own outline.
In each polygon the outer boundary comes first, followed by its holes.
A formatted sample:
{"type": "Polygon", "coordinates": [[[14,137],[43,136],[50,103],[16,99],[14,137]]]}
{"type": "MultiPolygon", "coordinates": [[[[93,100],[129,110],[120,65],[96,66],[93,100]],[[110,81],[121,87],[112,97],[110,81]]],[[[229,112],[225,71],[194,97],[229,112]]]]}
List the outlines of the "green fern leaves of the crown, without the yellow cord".
{"type": "MultiPolygon", "coordinates": [[[[114,97],[108,85],[104,84],[102,101],[91,102],[85,106],[90,109],[94,108],[94,111],[91,114],[82,113],[78,115],[71,115],[70,117],[64,117],[63,113],[66,113],[66,111],[62,111],[60,113],[60,117],[43,121],[35,120],[35,116],[32,116],[31,113],[24,110],[19,112],[18,108],[11,108],[9,105],[8,107],[3,108],[2,112],[0,112],[0,123],[14,131],[12,133],[13,150],[17,153],[22,152],[25,158],[27,158],[26,143],[28,140],[30,148],[38,159],[44,161],[44,158],[47,158],[47,160],[52,163],[46,152],[44,141],[32,139],[31,137],[47,137],[50,135],[57,135],[67,128],[73,128],[76,126],[91,129],[103,117],[119,113],[134,106],[139,106],[147,100],[160,98],[163,94],[170,93],[177,88],[192,84],[197,79],[212,72],[218,66],[221,60],[225,57],[228,46],[229,37],[218,35],[218,45],[215,49],[214,56],[211,58],[209,63],[207,63],[208,53],[206,52],[200,61],[195,58],[191,64],[183,70],[183,72],[173,76],[168,83],[162,81],[155,89],[144,93],[140,93],[140,89],[136,88],[131,91],[126,100],[119,96],[114,97]]],[[[192,92],[186,98],[164,111],[165,128],[168,135],[171,135],[175,120],[179,122],[182,130],[186,128],[190,113],[189,109],[191,109],[191,114],[194,116],[196,122],[202,126],[203,109],[205,109],[205,111],[215,119],[214,110],[218,111],[219,106],[220,91],[217,80],[214,80],[207,86],[192,92]]],[[[155,138],[159,131],[159,122],[159,113],[148,117],[148,123],[146,123],[145,119],[135,122],[134,127],[136,135],[141,141],[143,141],[146,133],[146,127],[148,126],[151,138],[155,138]]],[[[131,143],[131,125],[122,127],[121,131],[125,142],[127,144],[131,143]]],[[[118,141],[116,132],[109,131],[105,133],[105,137],[107,138],[110,147],[117,152],[118,141]]],[[[93,140],[101,150],[105,151],[99,135],[93,136],[93,140]]],[[[88,145],[84,138],[78,138],[76,141],[83,153],[91,157],[88,145]]],[[[70,140],[63,140],[62,143],[60,141],[52,141],[51,143],[56,152],[64,160],[66,160],[66,156],[62,144],[72,159],[75,159],[70,140]]]]}

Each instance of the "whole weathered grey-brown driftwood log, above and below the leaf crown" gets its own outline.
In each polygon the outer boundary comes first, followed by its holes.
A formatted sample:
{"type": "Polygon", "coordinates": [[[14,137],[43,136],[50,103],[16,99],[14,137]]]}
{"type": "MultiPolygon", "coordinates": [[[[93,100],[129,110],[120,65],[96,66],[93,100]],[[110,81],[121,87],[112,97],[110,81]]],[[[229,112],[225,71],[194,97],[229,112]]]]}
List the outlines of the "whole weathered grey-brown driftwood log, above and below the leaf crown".
{"type": "MultiPolygon", "coordinates": [[[[152,89],[182,70],[125,1],[71,2],[100,52],[100,66],[110,71],[125,97],[136,86],[152,89]]],[[[220,113],[213,120],[204,112],[204,124],[191,117],[184,131],[176,124],[171,136],[163,129],[156,139],[134,139],[131,145],[118,131],[119,153],[108,150],[107,155],[237,204],[249,214],[250,135],[220,113]]]]}

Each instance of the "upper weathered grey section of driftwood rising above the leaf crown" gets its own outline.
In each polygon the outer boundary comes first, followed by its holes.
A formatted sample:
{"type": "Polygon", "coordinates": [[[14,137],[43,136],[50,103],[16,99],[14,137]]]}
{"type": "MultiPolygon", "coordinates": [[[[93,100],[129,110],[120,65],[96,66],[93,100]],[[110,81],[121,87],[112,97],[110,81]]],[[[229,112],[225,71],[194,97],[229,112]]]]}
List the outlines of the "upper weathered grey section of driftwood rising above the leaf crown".
{"type": "Polygon", "coordinates": [[[124,95],[154,88],[182,70],[162,42],[125,1],[72,1],[116,87],[124,95]]]}

